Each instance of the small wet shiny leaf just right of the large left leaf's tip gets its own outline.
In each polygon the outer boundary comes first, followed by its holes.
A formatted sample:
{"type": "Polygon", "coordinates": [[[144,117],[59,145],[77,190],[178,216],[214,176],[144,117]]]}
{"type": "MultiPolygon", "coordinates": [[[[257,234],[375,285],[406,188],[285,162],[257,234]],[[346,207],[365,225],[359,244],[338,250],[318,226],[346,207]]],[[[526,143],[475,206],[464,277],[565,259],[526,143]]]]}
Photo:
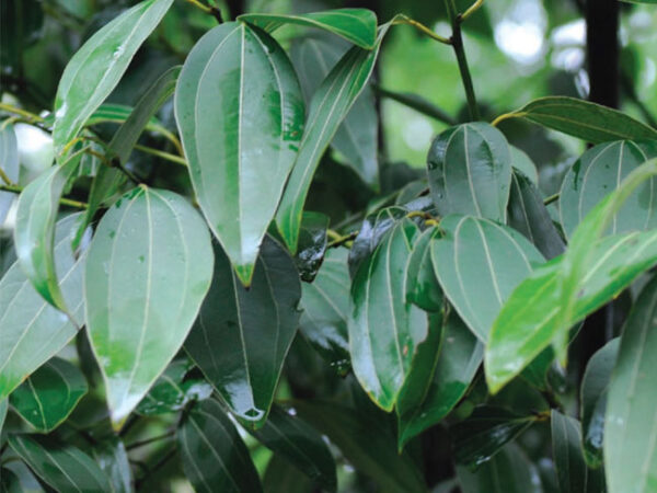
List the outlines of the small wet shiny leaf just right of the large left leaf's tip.
{"type": "Polygon", "coordinates": [[[137,412],[145,416],[173,413],[193,400],[208,399],[212,387],[203,378],[186,378],[192,365],[174,359],[139,402],[137,412]]]}

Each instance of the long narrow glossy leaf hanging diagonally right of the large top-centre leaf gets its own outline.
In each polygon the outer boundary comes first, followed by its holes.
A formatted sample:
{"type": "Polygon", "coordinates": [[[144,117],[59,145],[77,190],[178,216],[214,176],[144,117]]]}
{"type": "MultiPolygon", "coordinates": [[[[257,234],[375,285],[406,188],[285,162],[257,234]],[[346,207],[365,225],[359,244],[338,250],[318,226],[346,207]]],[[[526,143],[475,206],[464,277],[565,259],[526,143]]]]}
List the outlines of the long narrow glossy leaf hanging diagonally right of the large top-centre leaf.
{"type": "Polygon", "coordinates": [[[297,250],[303,204],[312,176],[337,128],[367,84],[388,27],[389,24],[381,26],[374,49],[357,46],[349,49],[333,67],[310,102],[299,156],[276,211],[276,226],[292,252],[297,250]]]}

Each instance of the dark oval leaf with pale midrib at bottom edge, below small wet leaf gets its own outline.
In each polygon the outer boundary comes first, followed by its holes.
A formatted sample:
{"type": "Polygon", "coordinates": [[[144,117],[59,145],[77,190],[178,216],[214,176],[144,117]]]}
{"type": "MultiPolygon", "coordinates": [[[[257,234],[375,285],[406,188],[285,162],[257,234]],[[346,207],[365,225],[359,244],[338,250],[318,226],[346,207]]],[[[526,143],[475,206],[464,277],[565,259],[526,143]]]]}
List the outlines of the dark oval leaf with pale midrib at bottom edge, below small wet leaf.
{"type": "Polygon", "coordinates": [[[198,493],[262,492],[249,450],[216,400],[194,404],[176,436],[185,474],[198,493]]]}

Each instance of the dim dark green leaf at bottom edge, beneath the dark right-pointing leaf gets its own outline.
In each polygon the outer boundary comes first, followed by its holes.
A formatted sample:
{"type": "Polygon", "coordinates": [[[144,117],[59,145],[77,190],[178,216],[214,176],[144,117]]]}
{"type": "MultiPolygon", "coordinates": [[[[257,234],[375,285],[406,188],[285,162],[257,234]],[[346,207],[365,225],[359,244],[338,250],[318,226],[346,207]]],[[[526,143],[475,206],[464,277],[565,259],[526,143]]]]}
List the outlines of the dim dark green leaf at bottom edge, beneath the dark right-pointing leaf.
{"type": "Polygon", "coordinates": [[[475,472],[457,467],[462,493],[542,493],[538,471],[516,444],[508,444],[475,472]]]}

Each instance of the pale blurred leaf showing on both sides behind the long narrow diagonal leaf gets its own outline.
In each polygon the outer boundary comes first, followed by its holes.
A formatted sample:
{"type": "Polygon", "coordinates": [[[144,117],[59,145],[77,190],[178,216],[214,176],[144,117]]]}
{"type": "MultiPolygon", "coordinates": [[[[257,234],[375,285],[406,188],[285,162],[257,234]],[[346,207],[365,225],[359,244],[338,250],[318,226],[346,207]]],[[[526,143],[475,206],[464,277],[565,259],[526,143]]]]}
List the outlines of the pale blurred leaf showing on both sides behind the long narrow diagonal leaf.
{"type": "MultiPolygon", "coordinates": [[[[299,73],[307,102],[312,100],[346,49],[346,46],[324,36],[293,39],[290,58],[299,73]]],[[[373,190],[379,190],[378,118],[374,94],[366,85],[331,141],[331,148],[373,190]]]]}

